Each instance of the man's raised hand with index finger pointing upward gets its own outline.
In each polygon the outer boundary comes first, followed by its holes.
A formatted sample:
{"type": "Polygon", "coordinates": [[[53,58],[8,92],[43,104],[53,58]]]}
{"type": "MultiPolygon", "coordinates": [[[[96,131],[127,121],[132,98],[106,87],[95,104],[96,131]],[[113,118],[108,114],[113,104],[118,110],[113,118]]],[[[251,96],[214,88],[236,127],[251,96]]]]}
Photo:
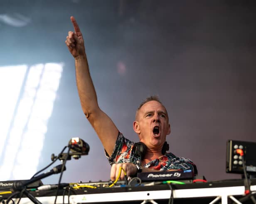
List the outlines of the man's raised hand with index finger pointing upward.
{"type": "Polygon", "coordinates": [[[66,36],[66,46],[69,48],[69,52],[74,58],[85,55],[84,48],[84,38],[79,29],[76,19],[71,16],[70,20],[74,26],[74,32],[69,31],[68,36],[66,36]]]}

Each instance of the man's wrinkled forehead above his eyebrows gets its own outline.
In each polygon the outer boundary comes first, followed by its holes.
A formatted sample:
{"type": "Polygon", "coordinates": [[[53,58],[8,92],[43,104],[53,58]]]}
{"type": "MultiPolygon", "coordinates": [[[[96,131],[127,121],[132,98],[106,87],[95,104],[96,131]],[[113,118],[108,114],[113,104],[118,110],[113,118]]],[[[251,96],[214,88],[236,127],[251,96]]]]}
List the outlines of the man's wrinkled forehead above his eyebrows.
{"type": "Polygon", "coordinates": [[[136,119],[138,119],[140,116],[142,116],[143,114],[149,111],[155,111],[155,110],[165,112],[168,117],[167,110],[165,106],[162,105],[162,103],[159,103],[158,101],[148,101],[147,103],[143,104],[143,106],[141,106],[139,110],[136,111],[136,119]]]}

